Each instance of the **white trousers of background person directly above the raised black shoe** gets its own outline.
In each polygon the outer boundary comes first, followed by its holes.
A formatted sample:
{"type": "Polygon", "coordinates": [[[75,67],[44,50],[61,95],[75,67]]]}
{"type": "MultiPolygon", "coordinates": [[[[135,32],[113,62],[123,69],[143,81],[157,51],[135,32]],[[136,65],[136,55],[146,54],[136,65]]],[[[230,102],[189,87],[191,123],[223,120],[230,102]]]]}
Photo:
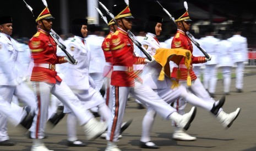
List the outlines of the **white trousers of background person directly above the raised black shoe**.
{"type": "Polygon", "coordinates": [[[205,65],[204,88],[208,89],[211,94],[215,94],[216,84],[217,84],[217,67],[216,67],[216,65],[205,65]]]}

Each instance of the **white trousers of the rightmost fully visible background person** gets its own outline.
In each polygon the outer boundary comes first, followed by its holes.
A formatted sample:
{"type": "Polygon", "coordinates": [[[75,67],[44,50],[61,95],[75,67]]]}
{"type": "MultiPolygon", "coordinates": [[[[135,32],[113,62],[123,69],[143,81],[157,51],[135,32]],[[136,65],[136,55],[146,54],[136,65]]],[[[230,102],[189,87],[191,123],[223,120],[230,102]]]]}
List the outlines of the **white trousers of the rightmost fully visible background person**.
{"type": "Polygon", "coordinates": [[[244,63],[236,62],[236,88],[243,89],[244,63]]]}

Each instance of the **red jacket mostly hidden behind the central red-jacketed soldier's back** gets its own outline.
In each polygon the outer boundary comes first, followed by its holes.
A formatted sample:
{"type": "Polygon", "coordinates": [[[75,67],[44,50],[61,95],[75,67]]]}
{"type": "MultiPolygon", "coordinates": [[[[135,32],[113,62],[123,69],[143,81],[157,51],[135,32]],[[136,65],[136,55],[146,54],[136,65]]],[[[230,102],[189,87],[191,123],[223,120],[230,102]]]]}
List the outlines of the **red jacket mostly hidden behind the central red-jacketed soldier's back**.
{"type": "MultiPolygon", "coordinates": [[[[102,42],[102,45],[101,45],[101,49],[104,52],[105,60],[110,65],[112,65],[112,62],[113,62],[112,53],[110,50],[110,39],[111,39],[112,34],[113,34],[113,32],[110,31],[110,33],[108,33],[107,37],[104,39],[104,41],[102,42]]],[[[110,78],[112,70],[113,70],[112,66],[105,66],[103,69],[103,76],[110,78]]]]}

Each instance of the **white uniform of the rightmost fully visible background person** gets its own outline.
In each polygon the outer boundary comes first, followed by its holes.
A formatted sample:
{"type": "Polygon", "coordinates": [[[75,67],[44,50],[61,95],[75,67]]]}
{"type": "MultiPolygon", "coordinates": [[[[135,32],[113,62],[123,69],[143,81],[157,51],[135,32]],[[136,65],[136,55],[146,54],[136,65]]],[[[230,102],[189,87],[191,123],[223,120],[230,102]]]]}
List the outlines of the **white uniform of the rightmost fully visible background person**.
{"type": "Polygon", "coordinates": [[[247,38],[241,35],[233,35],[227,39],[232,43],[233,59],[236,67],[236,88],[243,89],[244,62],[248,61],[248,44],[247,38]]]}

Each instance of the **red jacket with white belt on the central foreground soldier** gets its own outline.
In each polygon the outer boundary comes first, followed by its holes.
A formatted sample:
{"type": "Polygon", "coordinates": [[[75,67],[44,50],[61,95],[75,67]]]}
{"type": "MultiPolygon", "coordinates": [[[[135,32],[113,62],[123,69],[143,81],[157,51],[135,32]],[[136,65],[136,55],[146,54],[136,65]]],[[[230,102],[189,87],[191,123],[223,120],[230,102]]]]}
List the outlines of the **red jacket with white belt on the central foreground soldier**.
{"type": "Polygon", "coordinates": [[[113,66],[124,66],[128,68],[128,71],[113,71],[111,85],[133,87],[135,80],[142,82],[140,77],[134,72],[133,65],[145,64],[145,58],[135,56],[133,49],[133,42],[128,37],[128,33],[118,28],[113,33],[110,41],[113,66]]]}

